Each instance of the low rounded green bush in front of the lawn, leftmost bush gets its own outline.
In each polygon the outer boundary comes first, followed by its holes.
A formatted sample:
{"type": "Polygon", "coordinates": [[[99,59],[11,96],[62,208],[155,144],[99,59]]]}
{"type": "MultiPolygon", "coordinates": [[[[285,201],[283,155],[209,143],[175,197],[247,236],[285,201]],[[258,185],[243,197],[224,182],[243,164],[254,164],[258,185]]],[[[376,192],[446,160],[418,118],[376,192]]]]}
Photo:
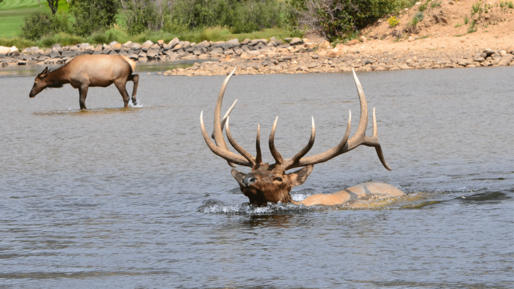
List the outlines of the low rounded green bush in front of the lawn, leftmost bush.
{"type": "Polygon", "coordinates": [[[22,36],[29,40],[39,40],[45,35],[70,31],[69,17],[66,13],[51,15],[45,12],[28,14],[22,27],[22,36]]]}

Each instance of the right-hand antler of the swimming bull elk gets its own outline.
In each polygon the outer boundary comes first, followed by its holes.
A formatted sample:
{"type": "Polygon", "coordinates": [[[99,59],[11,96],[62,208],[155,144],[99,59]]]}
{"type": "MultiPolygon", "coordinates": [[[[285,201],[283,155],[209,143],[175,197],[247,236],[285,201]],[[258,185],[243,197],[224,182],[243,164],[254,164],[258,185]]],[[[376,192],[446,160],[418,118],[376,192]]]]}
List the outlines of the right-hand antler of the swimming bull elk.
{"type": "Polygon", "coordinates": [[[375,147],[375,150],[377,152],[378,158],[380,159],[380,162],[382,162],[382,165],[387,170],[391,171],[391,168],[386,162],[386,159],[383,156],[382,149],[380,147],[380,142],[378,141],[378,133],[377,133],[377,120],[375,117],[375,108],[373,108],[373,136],[368,137],[366,136],[366,127],[368,126],[368,103],[366,102],[366,98],[364,97],[364,92],[362,91],[362,86],[360,84],[359,79],[357,78],[357,75],[355,74],[355,71],[353,71],[354,81],[355,85],[357,86],[357,93],[359,94],[359,101],[360,101],[360,120],[359,120],[359,126],[357,127],[357,132],[355,132],[355,135],[352,136],[351,139],[348,140],[348,136],[350,135],[350,127],[351,127],[351,121],[352,121],[352,112],[350,112],[350,116],[348,116],[348,123],[346,125],[346,132],[344,133],[344,137],[339,142],[339,145],[336,147],[309,157],[303,157],[310,148],[314,145],[314,136],[316,133],[316,129],[314,126],[314,118],[313,118],[313,124],[312,129],[310,133],[310,139],[307,143],[307,146],[303,148],[299,153],[297,153],[294,157],[284,160],[280,153],[277,151],[274,145],[274,135],[275,135],[275,127],[277,125],[277,119],[275,119],[275,122],[273,123],[273,128],[271,129],[271,134],[269,136],[269,149],[271,151],[271,155],[277,162],[277,164],[280,164],[284,170],[289,170],[293,168],[298,167],[305,167],[308,165],[316,165],[320,162],[325,162],[329,159],[332,159],[340,154],[344,154],[346,152],[349,152],[355,148],[357,148],[360,145],[368,146],[368,147],[375,147]]]}

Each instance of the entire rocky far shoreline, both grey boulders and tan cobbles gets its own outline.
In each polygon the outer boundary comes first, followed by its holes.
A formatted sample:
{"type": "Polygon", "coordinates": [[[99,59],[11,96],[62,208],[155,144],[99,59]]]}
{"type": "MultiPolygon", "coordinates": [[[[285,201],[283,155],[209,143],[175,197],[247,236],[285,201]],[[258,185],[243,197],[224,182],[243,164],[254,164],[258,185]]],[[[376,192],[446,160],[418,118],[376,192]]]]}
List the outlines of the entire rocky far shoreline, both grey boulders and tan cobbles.
{"type": "MultiPolygon", "coordinates": [[[[30,47],[22,52],[16,47],[0,46],[0,65],[64,64],[78,55],[124,55],[139,63],[147,61],[195,61],[188,68],[164,71],[163,75],[226,75],[238,66],[238,74],[338,73],[400,69],[433,69],[458,67],[487,67],[514,65],[513,47],[482,51],[428,50],[359,51],[357,45],[365,38],[339,44],[332,48],[328,42],[309,42],[308,39],[271,38],[238,39],[229,41],[190,43],[177,38],[169,43],[146,41],[143,44],[112,42],[93,46],[54,44],[51,48],[30,47]],[[355,47],[350,47],[356,45],[355,47]],[[350,49],[352,48],[352,49],[350,49]],[[356,49],[357,48],[357,49],[356,49]],[[350,51],[352,50],[352,51],[350,51]]],[[[159,73],[161,74],[161,73],[159,73]]]]}

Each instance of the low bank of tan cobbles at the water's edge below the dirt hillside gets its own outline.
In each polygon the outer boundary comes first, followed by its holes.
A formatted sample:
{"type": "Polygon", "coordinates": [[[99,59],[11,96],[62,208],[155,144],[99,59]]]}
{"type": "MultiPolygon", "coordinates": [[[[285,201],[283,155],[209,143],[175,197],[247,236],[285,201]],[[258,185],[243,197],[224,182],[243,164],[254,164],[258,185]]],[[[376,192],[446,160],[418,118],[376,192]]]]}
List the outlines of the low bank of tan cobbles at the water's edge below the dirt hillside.
{"type": "MultiPolygon", "coordinates": [[[[235,66],[237,74],[293,74],[338,73],[352,71],[380,71],[400,69],[433,69],[514,65],[512,48],[494,51],[486,49],[474,55],[445,55],[427,51],[418,56],[410,53],[383,52],[374,55],[344,53],[338,49],[303,52],[303,46],[263,52],[258,56],[242,53],[238,58],[226,57],[218,61],[195,63],[192,67],[167,70],[164,75],[226,75],[235,66]],[[336,51],[337,50],[337,51],[336,51]]],[[[357,52],[357,51],[355,51],[357,52]]],[[[458,52],[455,52],[458,53],[458,52]]]]}

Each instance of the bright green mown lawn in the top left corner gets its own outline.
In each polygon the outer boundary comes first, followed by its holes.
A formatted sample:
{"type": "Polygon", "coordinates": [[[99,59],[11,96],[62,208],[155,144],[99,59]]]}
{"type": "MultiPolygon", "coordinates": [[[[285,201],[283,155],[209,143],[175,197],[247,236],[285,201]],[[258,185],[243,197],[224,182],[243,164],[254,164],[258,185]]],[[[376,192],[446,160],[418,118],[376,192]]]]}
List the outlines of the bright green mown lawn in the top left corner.
{"type": "MultiPolygon", "coordinates": [[[[67,11],[66,0],[59,1],[59,11],[67,11]]],[[[0,3],[0,37],[13,37],[21,33],[23,18],[32,12],[51,13],[48,3],[34,0],[4,0],[0,3]]]]}

